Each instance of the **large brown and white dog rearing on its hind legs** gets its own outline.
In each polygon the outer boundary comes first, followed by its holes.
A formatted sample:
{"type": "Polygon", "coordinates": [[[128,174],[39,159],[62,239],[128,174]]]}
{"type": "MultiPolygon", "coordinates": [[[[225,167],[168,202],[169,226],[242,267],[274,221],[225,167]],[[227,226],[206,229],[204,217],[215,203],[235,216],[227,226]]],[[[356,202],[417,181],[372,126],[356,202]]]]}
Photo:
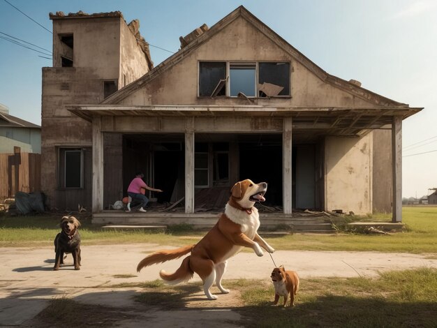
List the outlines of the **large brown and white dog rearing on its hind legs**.
{"type": "Polygon", "coordinates": [[[264,255],[261,247],[269,253],[274,252],[274,248],[258,235],[260,220],[258,209],[253,207],[255,202],[265,201],[266,191],[265,182],[255,184],[249,179],[237,182],[231,189],[225,212],[198,244],[152,253],[138,263],[137,271],[150,264],[174,260],[191,253],[182,261],[175,273],[167,274],[161,270],[161,278],[168,283],[176,284],[190,280],[195,272],[202,278],[203,291],[208,299],[217,298],[209,291],[214,281],[218,289],[227,294],[229,290],[223,288],[221,278],[229,258],[243,247],[252,248],[258,256],[264,255]]]}

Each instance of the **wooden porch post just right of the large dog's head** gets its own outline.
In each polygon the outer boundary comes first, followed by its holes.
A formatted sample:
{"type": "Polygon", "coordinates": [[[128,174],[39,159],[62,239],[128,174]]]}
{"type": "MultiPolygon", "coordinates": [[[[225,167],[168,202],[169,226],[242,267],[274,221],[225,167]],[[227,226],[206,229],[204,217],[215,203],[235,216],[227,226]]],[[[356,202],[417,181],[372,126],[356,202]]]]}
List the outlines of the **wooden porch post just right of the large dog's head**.
{"type": "Polygon", "coordinates": [[[284,117],[282,133],[283,213],[292,214],[292,118],[284,117]]]}

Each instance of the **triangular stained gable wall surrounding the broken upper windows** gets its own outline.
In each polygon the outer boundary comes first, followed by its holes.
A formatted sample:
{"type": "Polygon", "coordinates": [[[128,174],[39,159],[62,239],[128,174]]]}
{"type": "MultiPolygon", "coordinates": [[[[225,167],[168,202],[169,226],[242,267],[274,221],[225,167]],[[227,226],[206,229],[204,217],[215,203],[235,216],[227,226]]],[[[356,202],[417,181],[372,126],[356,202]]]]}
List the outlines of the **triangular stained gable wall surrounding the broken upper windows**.
{"type": "Polygon", "coordinates": [[[209,38],[142,89],[122,100],[121,104],[248,105],[244,98],[198,98],[198,61],[290,61],[292,96],[258,98],[254,99],[254,105],[373,106],[320,80],[242,17],[209,38]]]}

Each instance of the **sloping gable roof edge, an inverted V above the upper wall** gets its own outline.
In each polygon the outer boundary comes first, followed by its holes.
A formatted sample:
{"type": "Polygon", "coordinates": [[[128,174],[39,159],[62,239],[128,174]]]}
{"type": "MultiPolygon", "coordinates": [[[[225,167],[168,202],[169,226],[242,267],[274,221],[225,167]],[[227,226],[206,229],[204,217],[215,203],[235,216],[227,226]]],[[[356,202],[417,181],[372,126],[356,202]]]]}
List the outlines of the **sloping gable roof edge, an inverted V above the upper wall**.
{"type": "Polygon", "coordinates": [[[335,77],[334,75],[330,75],[325,72],[322,68],[314,64],[310,59],[304,56],[301,52],[299,52],[295,47],[292,47],[286,40],[281,38],[277,33],[275,33],[272,29],[267,27],[266,24],[258,20],[252,13],[249,12],[244,6],[239,6],[237,9],[232,11],[229,15],[225,16],[222,20],[214,24],[210,29],[202,33],[198,38],[193,40],[191,43],[186,45],[186,47],[182,48],[175,54],[173,54],[168,59],[165,59],[161,64],[156,66],[153,70],[150,70],[149,73],[140,77],[140,79],[135,82],[128,84],[123,89],[115,92],[101,103],[103,104],[117,104],[124,98],[133,94],[133,92],[137,91],[142,87],[143,84],[149,83],[151,80],[154,80],[155,77],[161,75],[165,70],[168,70],[172,66],[182,61],[185,57],[188,56],[191,52],[195,51],[202,43],[205,43],[209,38],[212,38],[216,33],[219,33],[223,30],[228,24],[237,20],[237,18],[243,17],[247,22],[253,25],[255,29],[258,29],[261,33],[263,33],[267,38],[272,40],[278,47],[280,47],[285,52],[288,52],[290,56],[302,64],[305,68],[314,73],[320,80],[331,84],[332,86],[342,89],[350,94],[353,94],[357,98],[362,98],[363,100],[369,101],[375,105],[384,107],[403,107],[408,108],[408,105],[403,103],[398,103],[397,101],[391,100],[389,98],[385,98],[378,94],[373,93],[372,91],[366,90],[362,87],[357,86],[353,82],[348,82],[346,80],[342,80],[339,77],[335,77]]]}

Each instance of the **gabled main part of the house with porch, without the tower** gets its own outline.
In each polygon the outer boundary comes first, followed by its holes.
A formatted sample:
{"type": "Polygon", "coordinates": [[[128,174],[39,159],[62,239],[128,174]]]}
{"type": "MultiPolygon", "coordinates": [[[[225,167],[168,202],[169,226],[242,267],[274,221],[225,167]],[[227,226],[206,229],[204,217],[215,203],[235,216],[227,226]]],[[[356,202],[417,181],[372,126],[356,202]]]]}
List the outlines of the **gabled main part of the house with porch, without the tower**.
{"type": "Polygon", "coordinates": [[[198,191],[249,178],[269,183],[266,204],[284,216],[392,211],[401,221],[402,121],[421,108],[329,75],[242,6],[180,40],[108,98],[64,101],[71,129],[87,135],[95,215],[140,169],[165,191],[158,202],[184,198],[187,215],[202,206],[198,191]]]}

